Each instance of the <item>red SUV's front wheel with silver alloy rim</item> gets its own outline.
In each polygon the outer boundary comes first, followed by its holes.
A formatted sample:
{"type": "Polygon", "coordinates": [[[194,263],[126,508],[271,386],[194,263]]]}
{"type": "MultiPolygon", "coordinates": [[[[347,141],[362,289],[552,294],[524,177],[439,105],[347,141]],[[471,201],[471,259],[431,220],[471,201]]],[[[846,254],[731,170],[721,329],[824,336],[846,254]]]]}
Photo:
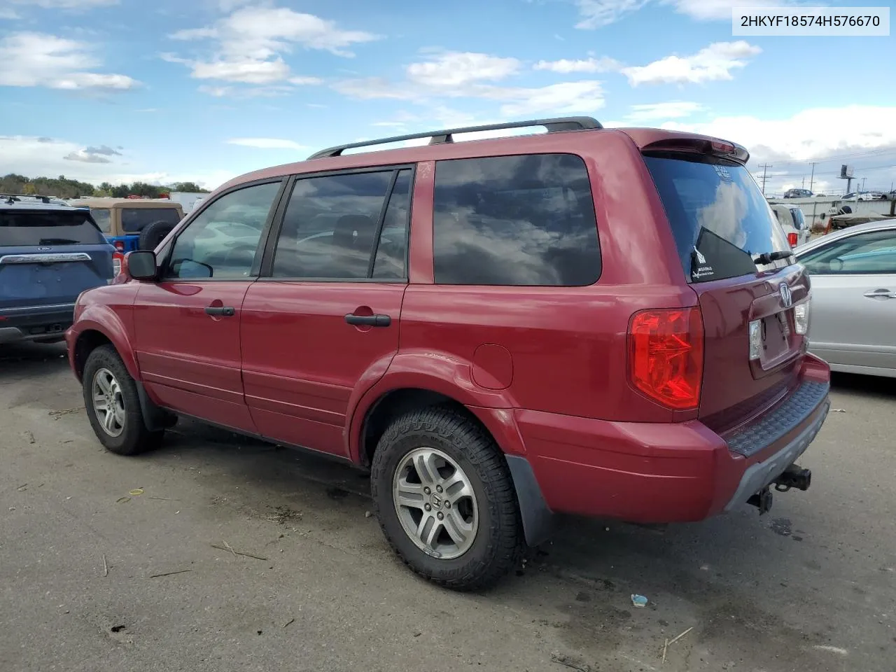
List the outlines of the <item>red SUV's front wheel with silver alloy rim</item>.
{"type": "Polygon", "coordinates": [[[111,345],[90,352],[82,392],[90,426],[109,452],[137,455],[159,447],[165,432],[146,428],[134,378],[111,345]]]}

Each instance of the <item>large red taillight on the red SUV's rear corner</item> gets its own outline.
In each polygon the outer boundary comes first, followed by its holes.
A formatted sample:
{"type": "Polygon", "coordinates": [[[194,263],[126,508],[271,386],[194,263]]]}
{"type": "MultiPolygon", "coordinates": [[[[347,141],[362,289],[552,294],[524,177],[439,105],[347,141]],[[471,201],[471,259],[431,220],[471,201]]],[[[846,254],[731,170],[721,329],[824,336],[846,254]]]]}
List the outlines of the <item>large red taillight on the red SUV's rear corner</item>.
{"type": "Polygon", "coordinates": [[[634,387],[670,409],[695,409],[703,380],[700,308],[642,310],[628,327],[634,387]]]}

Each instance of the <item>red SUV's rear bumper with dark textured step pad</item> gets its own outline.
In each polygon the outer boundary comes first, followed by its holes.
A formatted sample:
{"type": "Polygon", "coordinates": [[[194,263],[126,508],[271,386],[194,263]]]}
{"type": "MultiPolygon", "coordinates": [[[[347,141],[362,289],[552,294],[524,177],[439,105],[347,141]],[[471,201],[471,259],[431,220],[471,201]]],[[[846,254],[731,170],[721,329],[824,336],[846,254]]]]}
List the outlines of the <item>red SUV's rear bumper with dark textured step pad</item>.
{"type": "Polygon", "coordinates": [[[699,420],[619,423],[531,410],[516,411],[516,420],[551,511],[701,521],[745,503],[818,434],[830,408],[830,370],[810,356],[801,375],[797,391],[725,437],[699,420]]]}

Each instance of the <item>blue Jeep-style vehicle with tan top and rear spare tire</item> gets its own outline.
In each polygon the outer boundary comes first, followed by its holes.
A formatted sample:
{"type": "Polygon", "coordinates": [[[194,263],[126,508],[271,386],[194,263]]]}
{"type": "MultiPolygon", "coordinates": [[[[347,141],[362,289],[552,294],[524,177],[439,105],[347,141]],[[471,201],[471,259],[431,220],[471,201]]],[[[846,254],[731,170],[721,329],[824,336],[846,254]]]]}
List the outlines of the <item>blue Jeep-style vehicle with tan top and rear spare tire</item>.
{"type": "Polygon", "coordinates": [[[132,250],[153,250],[184,219],[179,202],[167,199],[83,198],[69,202],[87,208],[120,257],[132,250]]]}

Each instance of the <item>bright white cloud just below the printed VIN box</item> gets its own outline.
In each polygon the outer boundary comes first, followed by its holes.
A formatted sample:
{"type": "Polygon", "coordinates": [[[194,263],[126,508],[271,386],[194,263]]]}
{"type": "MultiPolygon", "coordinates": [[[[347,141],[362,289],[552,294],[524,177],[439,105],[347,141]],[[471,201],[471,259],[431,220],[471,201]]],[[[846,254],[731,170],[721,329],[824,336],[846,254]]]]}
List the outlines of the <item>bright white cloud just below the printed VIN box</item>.
{"type": "Polygon", "coordinates": [[[762,49],[744,40],[714,42],[692,56],[666,56],[648,65],[625,67],[622,73],[632,86],[639,84],[699,84],[732,79],[731,71],[762,49]]]}

